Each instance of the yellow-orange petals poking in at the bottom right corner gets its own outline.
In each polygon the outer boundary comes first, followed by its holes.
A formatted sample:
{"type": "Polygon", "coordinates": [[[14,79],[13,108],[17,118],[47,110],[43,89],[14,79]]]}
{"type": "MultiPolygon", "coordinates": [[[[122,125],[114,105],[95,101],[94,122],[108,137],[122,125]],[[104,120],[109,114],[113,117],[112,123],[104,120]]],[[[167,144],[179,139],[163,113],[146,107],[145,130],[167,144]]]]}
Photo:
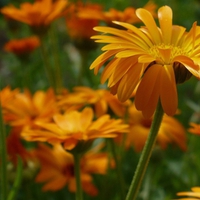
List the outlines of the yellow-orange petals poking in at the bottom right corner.
{"type": "Polygon", "coordinates": [[[200,187],[191,188],[190,192],[178,192],[177,196],[182,196],[183,198],[179,200],[198,200],[200,199],[200,187]]]}

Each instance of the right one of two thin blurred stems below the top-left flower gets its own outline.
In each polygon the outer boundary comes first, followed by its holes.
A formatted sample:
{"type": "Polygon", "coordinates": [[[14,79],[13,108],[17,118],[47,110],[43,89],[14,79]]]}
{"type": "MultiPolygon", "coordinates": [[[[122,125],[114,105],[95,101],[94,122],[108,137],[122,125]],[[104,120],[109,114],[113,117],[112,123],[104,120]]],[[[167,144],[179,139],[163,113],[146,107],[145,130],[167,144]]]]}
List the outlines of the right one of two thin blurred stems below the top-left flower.
{"type": "Polygon", "coordinates": [[[51,50],[53,53],[53,58],[54,58],[54,70],[55,70],[55,85],[56,85],[56,93],[59,94],[61,92],[62,86],[63,86],[63,80],[61,76],[61,66],[60,66],[60,61],[58,58],[58,42],[56,41],[56,36],[55,36],[55,30],[54,26],[50,28],[50,42],[51,42],[51,50]]]}

